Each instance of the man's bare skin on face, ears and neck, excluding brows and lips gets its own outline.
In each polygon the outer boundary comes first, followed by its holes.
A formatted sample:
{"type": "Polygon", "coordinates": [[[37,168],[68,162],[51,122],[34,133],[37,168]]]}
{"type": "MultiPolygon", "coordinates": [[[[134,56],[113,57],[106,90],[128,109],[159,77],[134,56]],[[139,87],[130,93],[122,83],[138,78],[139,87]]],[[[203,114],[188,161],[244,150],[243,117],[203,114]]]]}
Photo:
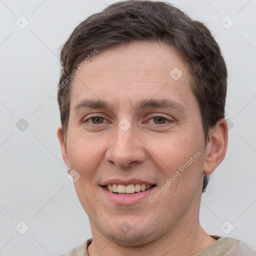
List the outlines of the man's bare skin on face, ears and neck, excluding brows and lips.
{"type": "Polygon", "coordinates": [[[199,205],[204,173],[224,158],[227,124],[220,119],[205,144],[190,82],[176,50],[158,42],[101,51],[73,78],[66,140],[61,127],[57,135],[68,172],[80,175],[74,186],[90,221],[90,256],[194,255],[215,241],[199,224],[199,205]],[[178,80],[169,75],[174,67],[183,73],[178,80]],[[102,99],[109,107],[74,110],[83,99],[102,99]],[[149,99],[176,101],[181,109],[136,108],[149,99]],[[123,118],[131,124],[126,131],[118,126],[123,118]],[[200,156],[154,202],[113,203],[99,186],[109,178],[138,178],[156,184],[154,195],[197,151],[200,156]],[[126,233],[118,228],[123,221],[130,226],[126,233]]]}

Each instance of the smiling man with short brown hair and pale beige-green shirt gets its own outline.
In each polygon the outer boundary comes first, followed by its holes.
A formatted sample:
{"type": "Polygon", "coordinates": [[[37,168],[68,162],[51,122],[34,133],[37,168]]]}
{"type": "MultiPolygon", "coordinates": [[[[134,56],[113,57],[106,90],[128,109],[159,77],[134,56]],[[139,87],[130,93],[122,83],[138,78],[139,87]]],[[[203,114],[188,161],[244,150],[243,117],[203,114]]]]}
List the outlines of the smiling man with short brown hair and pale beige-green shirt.
{"type": "Polygon", "coordinates": [[[165,2],[117,2],[74,29],[61,65],[57,135],[92,232],[63,255],[245,255],[199,224],[227,146],[209,30],[165,2]]]}

